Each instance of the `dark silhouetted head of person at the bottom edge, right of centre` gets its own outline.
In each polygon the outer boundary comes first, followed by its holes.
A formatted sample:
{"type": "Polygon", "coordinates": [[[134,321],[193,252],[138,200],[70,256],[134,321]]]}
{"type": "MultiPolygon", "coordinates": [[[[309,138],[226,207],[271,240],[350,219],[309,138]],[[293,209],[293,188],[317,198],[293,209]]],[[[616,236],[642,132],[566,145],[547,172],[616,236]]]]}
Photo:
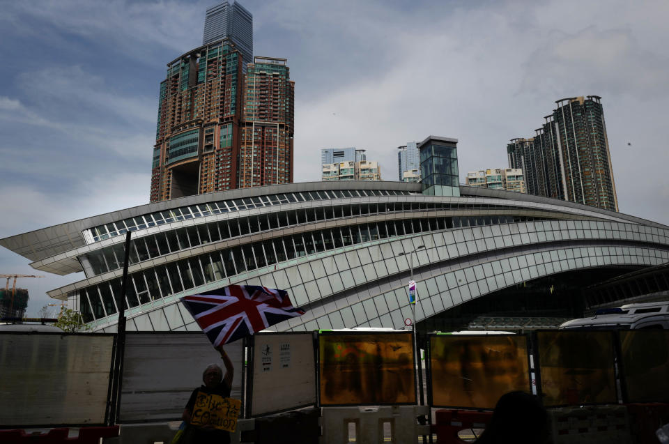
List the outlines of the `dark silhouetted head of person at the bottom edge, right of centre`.
{"type": "Polygon", "coordinates": [[[544,444],[548,413],[539,398],[525,392],[500,397],[490,423],[476,444],[544,444]]]}

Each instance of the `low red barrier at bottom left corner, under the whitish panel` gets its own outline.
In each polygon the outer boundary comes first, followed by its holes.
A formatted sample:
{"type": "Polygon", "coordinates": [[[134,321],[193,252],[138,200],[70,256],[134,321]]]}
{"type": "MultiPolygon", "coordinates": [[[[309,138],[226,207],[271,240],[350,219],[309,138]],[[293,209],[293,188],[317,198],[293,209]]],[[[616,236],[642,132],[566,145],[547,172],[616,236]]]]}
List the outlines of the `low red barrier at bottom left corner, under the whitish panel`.
{"type": "Polygon", "coordinates": [[[98,444],[100,438],[118,436],[118,426],[114,427],[82,427],[79,436],[68,438],[69,429],[51,429],[45,434],[26,434],[25,430],[0,430],[0,443],[48,443],[48,444],[98,444]]]}

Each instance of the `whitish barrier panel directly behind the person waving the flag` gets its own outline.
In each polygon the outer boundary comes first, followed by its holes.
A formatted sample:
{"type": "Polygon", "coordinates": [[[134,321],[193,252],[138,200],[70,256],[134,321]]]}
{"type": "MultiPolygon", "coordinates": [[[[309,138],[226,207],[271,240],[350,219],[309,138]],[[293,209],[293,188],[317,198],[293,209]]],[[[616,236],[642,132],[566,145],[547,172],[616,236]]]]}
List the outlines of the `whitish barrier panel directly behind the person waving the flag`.
{"type": "MultiPolygon", "coordinates": [[[[242,341],[224,347],[235,367],[231,397],[242,399],[242,341]]],[[[180,420],[190,394],[209,364],[225,368],[201,332],[128,332],[120,422],[180,420]]]]}

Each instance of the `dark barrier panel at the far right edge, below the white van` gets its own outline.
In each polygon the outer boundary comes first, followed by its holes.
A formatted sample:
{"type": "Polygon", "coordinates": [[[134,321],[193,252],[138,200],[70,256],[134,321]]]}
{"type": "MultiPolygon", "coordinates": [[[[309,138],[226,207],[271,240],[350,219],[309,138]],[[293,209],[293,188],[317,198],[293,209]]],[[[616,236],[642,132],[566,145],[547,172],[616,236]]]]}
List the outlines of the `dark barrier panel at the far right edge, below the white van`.
{"type": "Polygon", "coordinates": [[[620,335],[626,402],[669,400],[669,330],[625,330],[620,335]]]}

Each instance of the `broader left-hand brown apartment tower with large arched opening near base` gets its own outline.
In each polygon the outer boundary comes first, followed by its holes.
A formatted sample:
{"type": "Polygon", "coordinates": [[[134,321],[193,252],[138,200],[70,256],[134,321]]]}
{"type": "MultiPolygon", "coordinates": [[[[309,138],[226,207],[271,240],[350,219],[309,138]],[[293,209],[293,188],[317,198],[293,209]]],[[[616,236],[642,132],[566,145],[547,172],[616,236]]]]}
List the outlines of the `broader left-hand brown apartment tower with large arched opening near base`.
{"type": "Polygon", "coordinates": [[[160,83],[151,201],[238,187],[241,55],[229,40],[167,65],[160,83]]]}

